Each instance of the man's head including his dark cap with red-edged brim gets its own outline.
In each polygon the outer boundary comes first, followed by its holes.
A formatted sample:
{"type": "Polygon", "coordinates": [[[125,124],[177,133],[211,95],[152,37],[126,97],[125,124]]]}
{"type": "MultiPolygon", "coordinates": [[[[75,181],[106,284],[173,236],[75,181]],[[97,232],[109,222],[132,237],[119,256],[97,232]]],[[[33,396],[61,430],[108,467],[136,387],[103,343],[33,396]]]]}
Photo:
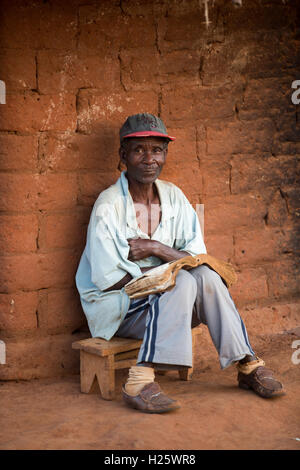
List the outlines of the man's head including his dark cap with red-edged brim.
{"type": "Polygon", "coordinates": [[[120,129],[120,161],[127,173],[140,183],[152,183],[165,164],[168,144],[175,137],[167,134],[163,121],[153,114],[129,116],[120,129]]]}

